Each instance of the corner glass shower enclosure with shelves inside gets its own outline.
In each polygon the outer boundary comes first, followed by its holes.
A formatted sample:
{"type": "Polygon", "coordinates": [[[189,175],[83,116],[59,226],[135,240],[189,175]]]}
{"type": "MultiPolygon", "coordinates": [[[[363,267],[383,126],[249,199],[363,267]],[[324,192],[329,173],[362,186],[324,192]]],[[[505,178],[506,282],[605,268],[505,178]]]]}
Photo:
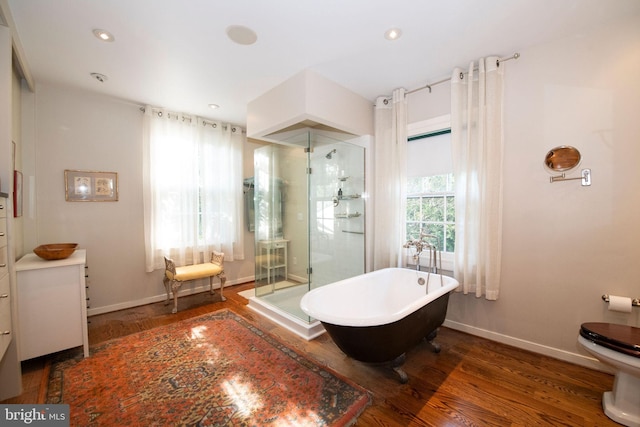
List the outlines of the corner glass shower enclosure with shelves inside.
{"type": "Polygon", "coordinates": [[[255,150],[257,298],[312,322],[306,292],[365,272],[364,151],[313,130],[255,150]]]}

